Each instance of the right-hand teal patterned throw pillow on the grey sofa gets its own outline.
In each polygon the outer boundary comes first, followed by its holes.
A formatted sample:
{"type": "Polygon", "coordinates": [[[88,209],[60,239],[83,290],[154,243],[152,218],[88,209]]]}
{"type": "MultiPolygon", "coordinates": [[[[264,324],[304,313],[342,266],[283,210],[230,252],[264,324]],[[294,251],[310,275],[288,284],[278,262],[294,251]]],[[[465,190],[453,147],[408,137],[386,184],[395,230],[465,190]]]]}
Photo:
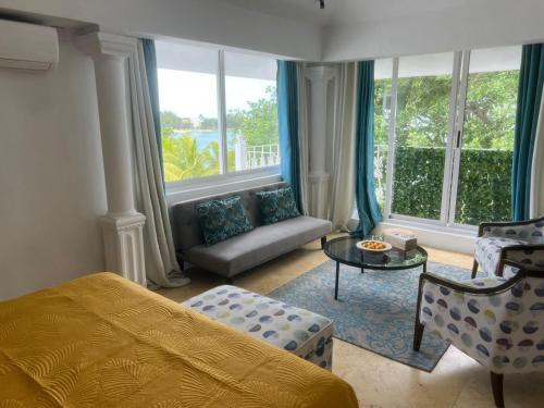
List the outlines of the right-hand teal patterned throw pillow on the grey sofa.
{"type": "Polygon", "coordinates": [[[264,224],[273,224],[282,220],[300,217],[290,187],[257,193],[257,197],[259,197],[264,224]]]}

